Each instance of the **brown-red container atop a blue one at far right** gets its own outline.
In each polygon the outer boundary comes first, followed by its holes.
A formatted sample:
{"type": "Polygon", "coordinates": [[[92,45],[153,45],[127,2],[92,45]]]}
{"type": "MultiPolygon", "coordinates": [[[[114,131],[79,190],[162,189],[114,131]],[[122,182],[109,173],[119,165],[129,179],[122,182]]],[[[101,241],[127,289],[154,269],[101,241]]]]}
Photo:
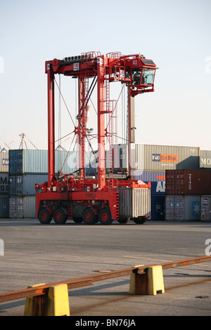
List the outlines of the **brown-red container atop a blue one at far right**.
{"type": "Polygon", "coordinates": [[[165,180],[168,195],[211,194],[210,170],[167,170],[165,180]]]}

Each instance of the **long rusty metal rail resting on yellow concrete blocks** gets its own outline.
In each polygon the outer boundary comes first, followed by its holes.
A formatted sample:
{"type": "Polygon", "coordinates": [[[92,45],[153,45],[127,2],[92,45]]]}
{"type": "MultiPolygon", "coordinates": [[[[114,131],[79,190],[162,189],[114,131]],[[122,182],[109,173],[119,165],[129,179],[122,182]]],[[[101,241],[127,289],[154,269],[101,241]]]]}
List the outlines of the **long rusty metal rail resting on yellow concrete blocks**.
{"type": "Polygon", "coordinates": [[[50,286],[56,286],[58,284],[67,284],[68,290],[77,289],[77,288],[81,288],[83,286],[91,286],[91,285],[93,285],[93,282],[103,281],[105,279],[111,279],[114,277],[122,277],[125,275],[132,275],[132,274],[143,275],[143,274],[146,274],[149,267],[162,266],[162,270],[166,270],[169,268],[177,268],[177,267],[186,266],[186,265],[193,265],[196,263],[205,263],[208,261],[211,261],[211,256],[191,258],[191,259],[186,259],[186,260],[170,261],[168,263],[159,263],[159,264],[154,264],[154,265],[134,266],[131,268],[124,268],[122,270],[113,270],[113,271],[105,272],[102,274],[89,275],[86,277],[78,277],[75,279],[67,279],[67,280],[61,281],[61,282],[53,282],[53,283],[30,287],[30,288],[22,289],[22,290],[18,290],[18,291],[0,293],[0,303],[5,303],[7,301],[15,301],[18,299],[24,299],[24,298],[34,297],[34,296],[46,295],[49,291],[50,286]]]}

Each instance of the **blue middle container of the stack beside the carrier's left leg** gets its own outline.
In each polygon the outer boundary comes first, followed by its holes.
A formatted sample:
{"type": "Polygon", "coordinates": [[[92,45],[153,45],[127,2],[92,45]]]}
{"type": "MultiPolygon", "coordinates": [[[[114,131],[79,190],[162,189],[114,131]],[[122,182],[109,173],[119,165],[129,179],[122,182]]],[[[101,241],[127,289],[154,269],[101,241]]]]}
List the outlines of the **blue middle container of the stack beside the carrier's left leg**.
{"type": "Polygon", "coordinates": [[[48,174],[22,174],[8,176],[8,194],[9,196],[24,197],[35,195],[35,183],[41,185],[48,181],[48,174]]]}

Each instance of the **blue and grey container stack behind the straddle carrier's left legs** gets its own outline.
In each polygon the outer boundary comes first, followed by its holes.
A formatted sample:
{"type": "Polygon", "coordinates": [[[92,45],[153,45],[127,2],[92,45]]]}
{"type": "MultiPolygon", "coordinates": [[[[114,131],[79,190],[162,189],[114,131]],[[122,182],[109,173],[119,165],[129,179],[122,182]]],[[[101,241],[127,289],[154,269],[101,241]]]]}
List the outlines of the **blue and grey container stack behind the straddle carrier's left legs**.
{"type": "MultiPolygon", "coordinates": [[[[79,168],[78,152],[55,151],[55,173],[74,173],[79,168]]],[[[90,152],[86,161],[92,161],[90,152]],[[91,159],[91,160],[90,160],[91,159]]],[[[8,194],[10,218],[34,218],[35,184],[48,180],[47,150],[9,150],[8,194]]]]}

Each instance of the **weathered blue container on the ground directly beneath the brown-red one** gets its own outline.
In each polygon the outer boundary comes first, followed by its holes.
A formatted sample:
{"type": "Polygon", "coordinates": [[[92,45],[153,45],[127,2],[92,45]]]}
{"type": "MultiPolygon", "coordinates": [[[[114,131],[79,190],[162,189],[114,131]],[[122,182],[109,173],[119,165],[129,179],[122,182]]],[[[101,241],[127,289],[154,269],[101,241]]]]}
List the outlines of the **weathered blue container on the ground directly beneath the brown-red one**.
{"type": "Polygon", "coordinates": [[[200,220],[200,196],[166,196],[165,220],[200,220]]]}

